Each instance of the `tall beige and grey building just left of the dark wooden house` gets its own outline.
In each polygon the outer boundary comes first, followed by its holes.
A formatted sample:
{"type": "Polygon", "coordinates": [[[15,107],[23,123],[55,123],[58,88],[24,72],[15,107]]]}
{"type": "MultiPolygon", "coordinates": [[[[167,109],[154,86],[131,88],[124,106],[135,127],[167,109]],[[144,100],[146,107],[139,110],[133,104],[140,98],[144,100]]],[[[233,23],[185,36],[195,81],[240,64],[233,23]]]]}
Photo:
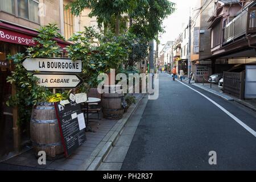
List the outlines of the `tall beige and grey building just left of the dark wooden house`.
{"type": "Polygon", "coordinates": [[[202,82],[212,74],[209,18],[214,12],[214,1],[198,0],[191,15],[191,71],[195,82],[202,82]]]}

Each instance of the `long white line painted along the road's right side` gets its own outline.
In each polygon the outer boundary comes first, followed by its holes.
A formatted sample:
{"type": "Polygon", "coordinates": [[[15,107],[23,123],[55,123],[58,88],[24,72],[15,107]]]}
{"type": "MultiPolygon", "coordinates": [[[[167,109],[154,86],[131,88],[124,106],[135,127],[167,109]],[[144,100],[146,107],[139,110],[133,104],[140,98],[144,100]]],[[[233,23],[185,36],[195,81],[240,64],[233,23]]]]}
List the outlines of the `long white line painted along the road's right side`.
{"type": "MultiPolygon", "coordinates": [[[[170,76],[166,73],[167,76],[170,76]]],[[[170,76],[171,77],[171,76],[170,76]]],[[[175,79],[176,81],[179,81],[177,79],[175,79]]],[[[254,137],[256,137],[256,132],[251,129],[249,126],[247,126],[245,123],[243,123],[240,119],[238,119],[236,116],[234,116],[232,113],[230,113],[228,110],[226,110],[224,107],[222,107],[221,105],[217,104],[217,102],[213,101],[212,99],[210,99],[209,97],[205,96],[203,93],[191,88],[190,86],[184,84],[183,82],[179,81],[181,84],[187,86],[189,89],[199,93],[201,96],[203,96],[204,98],[206,98],[207,100],[209,100],[210,102],[212,102],[212,104],[216,105],[218,108],[220,108],[222,111],[224,111],[224,113],[228,114],[229,117],[231,117],[232,119],[234,119],[234,121],[236,121],[239,125],[241,125],[244,129],[246,129],[247,131],[249,131],[252,135],[254,135],[254,137]]]]}

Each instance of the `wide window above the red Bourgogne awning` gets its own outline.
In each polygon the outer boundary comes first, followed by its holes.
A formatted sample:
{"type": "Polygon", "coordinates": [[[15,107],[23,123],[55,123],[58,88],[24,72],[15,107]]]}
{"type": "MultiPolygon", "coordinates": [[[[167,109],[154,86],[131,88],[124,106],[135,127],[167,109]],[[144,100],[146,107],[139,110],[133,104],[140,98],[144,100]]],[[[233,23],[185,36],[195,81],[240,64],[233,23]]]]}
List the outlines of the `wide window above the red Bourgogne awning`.
{"type": "Polygon", "coordinates": [[[1,0],[0,9],[20,18],[39,23],[38,4],[36,0],[1,0]]]}

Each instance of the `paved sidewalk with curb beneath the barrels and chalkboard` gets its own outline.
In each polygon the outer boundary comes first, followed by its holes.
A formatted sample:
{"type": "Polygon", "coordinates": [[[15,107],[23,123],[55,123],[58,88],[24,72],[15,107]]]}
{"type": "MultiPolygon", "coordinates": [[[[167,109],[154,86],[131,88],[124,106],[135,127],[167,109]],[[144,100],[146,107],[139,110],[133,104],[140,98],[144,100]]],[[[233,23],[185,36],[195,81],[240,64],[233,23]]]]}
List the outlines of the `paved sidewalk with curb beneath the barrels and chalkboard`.
{"type": "Polygon", "coordinates": [[[118,135],[125,126],[131,114],[137,109],[143,94],[134,94],[137,97],[137,104],[132,105],[127,113],[120,120],[110,121],[101,116],[100,128],[97,129],[97,123],[90,123],[90,126],[96,133],[86,133],[86,142],[80,146],[69,158],[63,158],[55,161],[47,161],[46,165],[40,166],[35,158],[33,150],[28,150],[14,158],[0,163],[0,168],[10,170],[94,170],[110,150],[112,143],[117,140],[118,135]]]}

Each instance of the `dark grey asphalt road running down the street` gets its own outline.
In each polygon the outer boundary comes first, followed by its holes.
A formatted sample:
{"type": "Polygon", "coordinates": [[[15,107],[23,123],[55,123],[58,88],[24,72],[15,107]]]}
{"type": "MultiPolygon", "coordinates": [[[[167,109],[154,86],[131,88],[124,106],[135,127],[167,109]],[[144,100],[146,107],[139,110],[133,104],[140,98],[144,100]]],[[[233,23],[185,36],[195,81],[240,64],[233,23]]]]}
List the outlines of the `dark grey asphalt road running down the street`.
{"type": "MultiPolygon", "coordinates": [[[[201,89],[256,131],[253,111],[201,89]]],[[[207,98],[165,73],[160,96],[148,101],[122,170],[256,170],[256,137],[207,98]],[[217,165],[209,165],[209,152],[217,165]]],[[[247,129],[249,129],[247,128],[247,129]]]]}

